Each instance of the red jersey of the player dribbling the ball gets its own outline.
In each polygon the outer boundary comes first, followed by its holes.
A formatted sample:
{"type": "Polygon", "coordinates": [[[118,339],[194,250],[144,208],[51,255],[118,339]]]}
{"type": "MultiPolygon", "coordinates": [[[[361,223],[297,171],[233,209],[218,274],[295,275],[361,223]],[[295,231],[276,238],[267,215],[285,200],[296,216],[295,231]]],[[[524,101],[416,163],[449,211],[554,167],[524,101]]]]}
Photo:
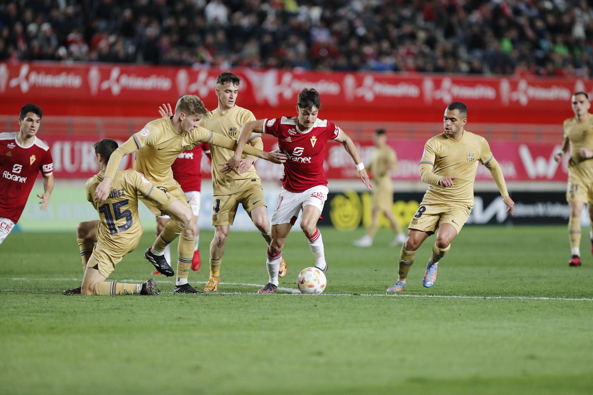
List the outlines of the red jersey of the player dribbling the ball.
{"type": "Polygon", "coordinates": [[[304,132],[298,129],[297,120],[298,117],[280,117],[263,121],[263,132],[277,137],[279,149],[288,155],[282,186],[289,192],[327,185],[323,169],[326,142],[340,135],[340,129],[328,120],[317,119],[313,127],[304,132]]]}

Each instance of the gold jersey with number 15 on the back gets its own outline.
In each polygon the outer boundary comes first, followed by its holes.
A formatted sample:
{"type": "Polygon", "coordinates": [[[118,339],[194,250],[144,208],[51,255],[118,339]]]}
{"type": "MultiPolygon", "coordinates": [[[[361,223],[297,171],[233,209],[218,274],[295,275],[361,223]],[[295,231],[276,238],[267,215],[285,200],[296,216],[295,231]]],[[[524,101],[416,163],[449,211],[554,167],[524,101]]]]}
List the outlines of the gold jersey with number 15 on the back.
{"type": "Polygon", "coordinates": [[[95,189],[103,181],[105,172],[95,174],[87,181],[87,200],[99,213],[97,237],[114,250],[129,249],[139,234],[142,224],[138,218],[138,196],[152,200],[161,209],[167,209],[173,197],[162,192],[136,170],[117,170],[107,200],[97,203],[95,189]]]}

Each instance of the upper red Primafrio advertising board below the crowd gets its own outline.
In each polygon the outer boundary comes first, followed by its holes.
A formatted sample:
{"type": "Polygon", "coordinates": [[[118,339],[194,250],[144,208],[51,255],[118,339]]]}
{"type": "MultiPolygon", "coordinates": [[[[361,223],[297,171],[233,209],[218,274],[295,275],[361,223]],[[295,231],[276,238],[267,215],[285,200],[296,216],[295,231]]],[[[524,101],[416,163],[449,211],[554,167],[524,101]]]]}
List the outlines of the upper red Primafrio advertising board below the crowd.
{"type": "MultiPolygon", "coordinates": [[[[438,120],[463,101],[474,122],[562,123],[570,95],[593,81],[557,78],[464,77],[371,72],[232,70],[241,77],[238,104],[256,117],[292,114],[304,87],[316,88],[323,117],[334,120],[438,120]]],[[[47,114],[154,116],[155,104],[196,94],[216,106],[218,69],[138,65],[0,63],[3,113],[33,101],[47,114]]]]}

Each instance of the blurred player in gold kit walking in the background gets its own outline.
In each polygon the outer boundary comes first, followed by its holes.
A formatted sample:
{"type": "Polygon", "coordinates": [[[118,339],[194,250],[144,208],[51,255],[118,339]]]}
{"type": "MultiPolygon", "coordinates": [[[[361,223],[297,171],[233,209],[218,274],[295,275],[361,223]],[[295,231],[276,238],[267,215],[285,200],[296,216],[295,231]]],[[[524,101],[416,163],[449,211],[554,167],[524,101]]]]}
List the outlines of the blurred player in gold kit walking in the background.
{"type": "Polygon", "coordinates": [[[389,220],[391,229],[396,235],[391,247],[401,246],[406,241],[406,235],[401,230],[400,222],[393,216],[393,183],[391,171],[397,170],[397,155],[387,144],[387,135],[384,129],[375,130],[373,135],[375,149],[371,154],[371,164],[367,168],[372,174],[374,188],[372,190],[372,219],[366,235],[353,244],[356,247],[371,247],[372,239],[379,228],[379,215],[382,213],[389,220]]]}

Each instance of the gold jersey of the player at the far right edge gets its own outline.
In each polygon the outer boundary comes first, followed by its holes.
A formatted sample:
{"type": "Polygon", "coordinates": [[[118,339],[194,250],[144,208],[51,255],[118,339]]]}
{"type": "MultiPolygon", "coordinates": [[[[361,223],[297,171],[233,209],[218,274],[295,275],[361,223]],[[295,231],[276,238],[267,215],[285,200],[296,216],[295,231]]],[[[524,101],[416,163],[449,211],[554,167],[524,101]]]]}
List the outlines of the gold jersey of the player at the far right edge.
{"type": "Polygon", "coordinates": [[[564,122],[564,138],[570,142],[570,160],[568,167],[579,170],[593,169],[593,158],[585,159],[581,155],[581,148],[593,151],[593,114],[577,121],[570,118],[564,122]]]}

